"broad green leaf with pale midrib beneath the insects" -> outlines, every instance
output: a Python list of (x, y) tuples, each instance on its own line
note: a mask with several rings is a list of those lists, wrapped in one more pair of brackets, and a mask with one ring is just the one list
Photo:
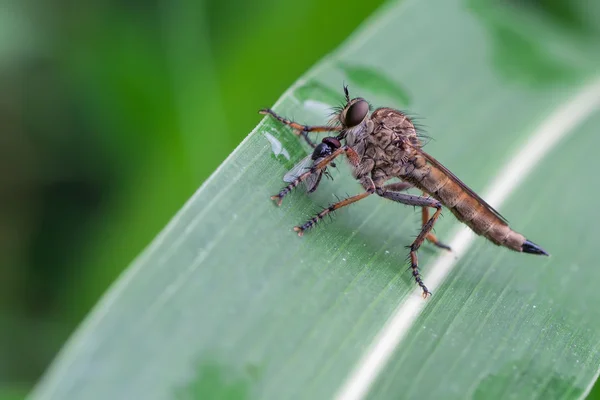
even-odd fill
[(322, 124), (346, 82), (408, 109), (434, 139), (428, 152), (551, 257), (472, 237), (446, 212), (436, 234), (455, 251), (420, 250), (434, 292), (422, 300), (404, 247), (418, 213), (371, 196), (298, 238), (294, 225), (360, 188), (339, 163), (333, 182), (277, 208), (269, 196), (308, 150), (264, 119), (32, 398), (585, 395), (600, 364), (600, 52), (597, 33), (569, 21), (483, 0), (390, 3), (274, 107)]

